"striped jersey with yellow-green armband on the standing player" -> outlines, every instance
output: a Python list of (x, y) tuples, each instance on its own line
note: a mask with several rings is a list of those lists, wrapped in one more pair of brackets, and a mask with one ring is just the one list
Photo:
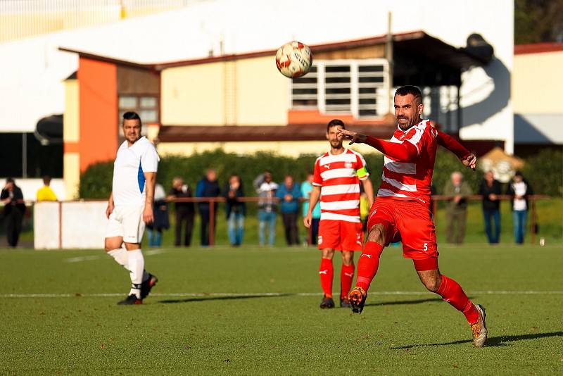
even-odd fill
[(350, 149), (317, 158), (313, 185), (321, 187), (321, 220), (360, 222), (360, 180), (369, 177), (364, 157)]

